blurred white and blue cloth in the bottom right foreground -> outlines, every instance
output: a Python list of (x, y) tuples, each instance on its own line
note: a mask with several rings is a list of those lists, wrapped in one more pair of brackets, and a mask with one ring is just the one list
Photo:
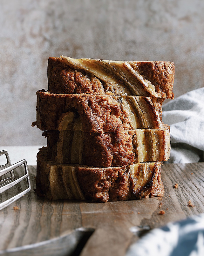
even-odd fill
[[(137, 233), (136, 233), (137, 234)], [(126, 256), (203, 256), (204, 214), (153, 229), (131, 245)]]

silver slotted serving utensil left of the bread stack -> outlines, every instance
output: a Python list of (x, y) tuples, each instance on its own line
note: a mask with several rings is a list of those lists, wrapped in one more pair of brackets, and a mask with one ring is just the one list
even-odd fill
[[(11, 164), (8, 151), (7, 150), (0, 151), (0, 156), (3, 154), (5, 154), (5, 156), (6, 156), (7, 163), (0, 166), (0, 195), (4, 191), (10, 189), (11, 187), (18, 184), (19, 182), (21, 182), (24, 179), (27, 179), (27, 187), (28, 188), (26, 188), (22, 192), (17, 193), (15, 196), (0, 203), (0, 210), (7, 207), (8, 205), (10, 205), (11, 203), (13, 203), (14, 201), (16, 201), (17, 199), (19, 199), (20, 197), (22, 197), (23, 195), (25, 195), (27, 192), (29, 192), (31, 190), (31, 182), (30, 182), (30, 178), (29, 178), (29, 174), (28, 174), (28, 165), (27, 165), (26, 160), (24, 159), (17, 163)], [(24, 164), (25, 174), (23, 176), (15, 179), (13, 170), (23, 164)], [(10, 175), (10, 177), (5, 177), (6, 174)]]

